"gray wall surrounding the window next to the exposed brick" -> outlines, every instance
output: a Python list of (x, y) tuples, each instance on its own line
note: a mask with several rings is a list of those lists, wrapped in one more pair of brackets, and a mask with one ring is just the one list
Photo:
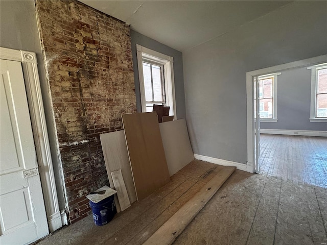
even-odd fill
[(141, 94), (139, 91), (139, 79), (138, 79), (138, 66), (136, 56), (136, 44), (150, 48), (161, 54), (174, 57), (174, 82), (175, 82), (175, 95), (176, 95), (176, 114), (177, 118), (185, 118), (185, 95), (184, 95), (184, 77), (183, 77), (183, 57), (182, 53), (174, 50), (173, 48), (166, 46), (160, 42), (157, 42), (147, 36), (144, 36), (138, 32), (131, 30), (132, 41), (132, 55), (133, 55), (133, 68), (135, 79), (135, 94), (136, 94), (136, 106), (137, 111), (141, 112)]

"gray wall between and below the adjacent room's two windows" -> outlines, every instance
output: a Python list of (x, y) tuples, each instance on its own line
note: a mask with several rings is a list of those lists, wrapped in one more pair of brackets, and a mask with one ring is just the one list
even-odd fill
[(310, 122), (311, 69), (282, 71), (277, 79), (277, 122), (264, 122), (262, 129), (327, 130), (326, 122)]

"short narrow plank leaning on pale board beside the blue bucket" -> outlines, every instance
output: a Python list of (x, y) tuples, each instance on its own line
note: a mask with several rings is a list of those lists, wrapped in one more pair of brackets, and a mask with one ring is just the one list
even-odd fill
[(131, 206), (131, 203), (129, 202), (128, 193), (122, 175), (122, 169), (112, 171), (111, 176), (114, 188), (117, 191), (117, 197), (121, 206), (121, 210), (124, 211)]

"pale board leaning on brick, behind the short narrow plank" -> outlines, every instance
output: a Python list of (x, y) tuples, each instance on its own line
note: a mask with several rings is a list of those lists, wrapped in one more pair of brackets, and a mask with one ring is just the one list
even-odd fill
[[(124, 131), (100, 134), (100, 140), (110, 186), (114, 186), (111, 171), (122, 169), (129, 201), (130, 203), (137, 201)], [(120, 212), (121, 209), (116, 195), (115, 204), (117, 212)]]

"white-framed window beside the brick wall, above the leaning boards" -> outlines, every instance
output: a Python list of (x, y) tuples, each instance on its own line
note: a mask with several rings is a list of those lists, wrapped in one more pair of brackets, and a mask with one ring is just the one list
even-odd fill
[(152, 111), (153, 104), (169, 106), (176, 119), (173, 57), (136, 44), (142, 112)]

